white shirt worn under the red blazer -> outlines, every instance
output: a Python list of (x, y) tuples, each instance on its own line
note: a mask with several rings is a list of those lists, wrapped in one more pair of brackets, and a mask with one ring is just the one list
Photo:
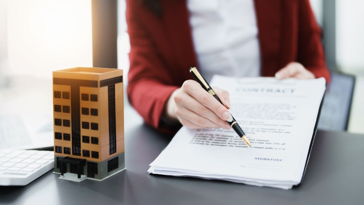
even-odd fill
[(258, 27), (253, 0), (187, 0), (198, 69), (214, 74), (260, 76)]

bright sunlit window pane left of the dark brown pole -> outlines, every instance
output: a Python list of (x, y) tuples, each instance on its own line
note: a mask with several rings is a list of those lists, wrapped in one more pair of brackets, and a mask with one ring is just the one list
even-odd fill
[(9, 75), (52, 77), (53, 70), (92, 67), (91, 0), (8, 0)]

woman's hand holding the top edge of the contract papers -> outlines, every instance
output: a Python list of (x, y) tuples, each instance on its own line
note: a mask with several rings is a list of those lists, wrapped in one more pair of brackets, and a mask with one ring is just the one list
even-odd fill
[(314, 74), (298, 62), (290, 62), (276, 73), (276, 78), (314, 79)]

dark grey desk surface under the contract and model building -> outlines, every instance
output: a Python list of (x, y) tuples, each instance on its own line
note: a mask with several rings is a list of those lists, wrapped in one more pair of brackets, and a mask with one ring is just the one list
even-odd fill
[[(129, 112), (126, 115), (131, 116)], [(52, 171), (23, 187), (0, 187), (0, 204), (362, 204), (364, 136), (318, 131), (302, 185), (292, 190), (147, 174), (171, 137), (126, 123), (126, 171), (102, 182), (58, 179)], [(131, 125), (132, 124), (132, 125)], [(345, 143), (344, 140), (346, 140)]]

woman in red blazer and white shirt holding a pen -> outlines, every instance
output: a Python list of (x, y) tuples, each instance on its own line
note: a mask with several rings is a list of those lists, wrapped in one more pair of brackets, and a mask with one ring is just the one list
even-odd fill
[(219, 104), (192, 79), (213, 74), (330, 80), (309, 0), (127, 0), (128, 97), (147, 124), (225, 127), (230, 101)]

